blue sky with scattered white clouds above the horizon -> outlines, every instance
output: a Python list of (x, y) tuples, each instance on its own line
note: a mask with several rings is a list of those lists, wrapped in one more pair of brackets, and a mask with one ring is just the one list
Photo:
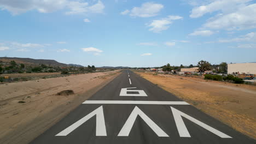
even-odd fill
[(0, 57), (155, 67), (256, 62), (256, 1), (0, 0)]

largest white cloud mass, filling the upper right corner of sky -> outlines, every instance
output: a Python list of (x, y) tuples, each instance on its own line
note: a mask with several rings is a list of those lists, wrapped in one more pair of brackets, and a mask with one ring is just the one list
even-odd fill
[(256, 28), (256, 4), (252, 0), (215, 0), (193, 8), (190, 17), (218, 12), (203, 24), (204, 29), (243, 30)]

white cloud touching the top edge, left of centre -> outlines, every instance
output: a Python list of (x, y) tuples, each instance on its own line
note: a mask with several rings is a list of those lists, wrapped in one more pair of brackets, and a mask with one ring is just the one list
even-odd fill
[(87, 13), (103, 13), (105, 8), (104, 4), (101, 1), (98, 1), (94, 5), (90, 5), (87, 2), (72, 1), (69, 2), (67, 7), (70, 11), (67, 11), (67, 15), (71, 14), (87, 14)]

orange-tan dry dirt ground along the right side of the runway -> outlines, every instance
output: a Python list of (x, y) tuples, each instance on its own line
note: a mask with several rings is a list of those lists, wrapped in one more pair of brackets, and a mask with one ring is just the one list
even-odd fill
[(197, 109), (256, 139), (256, 86), (136, 72)]

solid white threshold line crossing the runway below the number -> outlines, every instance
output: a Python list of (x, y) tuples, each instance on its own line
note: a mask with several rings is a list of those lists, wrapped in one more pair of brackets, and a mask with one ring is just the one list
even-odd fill
[(185, 101), (86, 100), (83, 104), (189, 105)]

